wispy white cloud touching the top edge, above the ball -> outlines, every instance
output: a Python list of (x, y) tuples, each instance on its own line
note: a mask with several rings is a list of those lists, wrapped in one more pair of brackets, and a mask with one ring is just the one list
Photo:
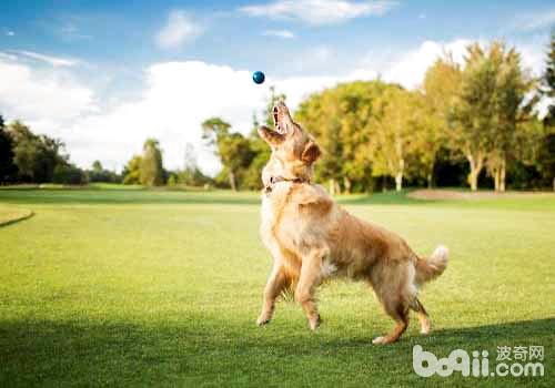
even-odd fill
[(264, 4), (242, 7), (240, 11), (251, 17), (299, 20), (319, 25), (336, 24), (371, 14), (382, 16), (395, 4), (394, 1), (276, 0)]

